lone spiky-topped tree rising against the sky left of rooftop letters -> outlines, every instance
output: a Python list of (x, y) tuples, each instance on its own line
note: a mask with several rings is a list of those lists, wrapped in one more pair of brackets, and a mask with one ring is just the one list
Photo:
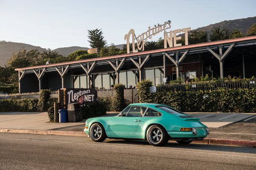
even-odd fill
[(88, 30), (88, 42), (90, 42), (91, 48), (98, 48), (99, 50), (106, 46), (107, 41), (104, 40), (101, 29)]

